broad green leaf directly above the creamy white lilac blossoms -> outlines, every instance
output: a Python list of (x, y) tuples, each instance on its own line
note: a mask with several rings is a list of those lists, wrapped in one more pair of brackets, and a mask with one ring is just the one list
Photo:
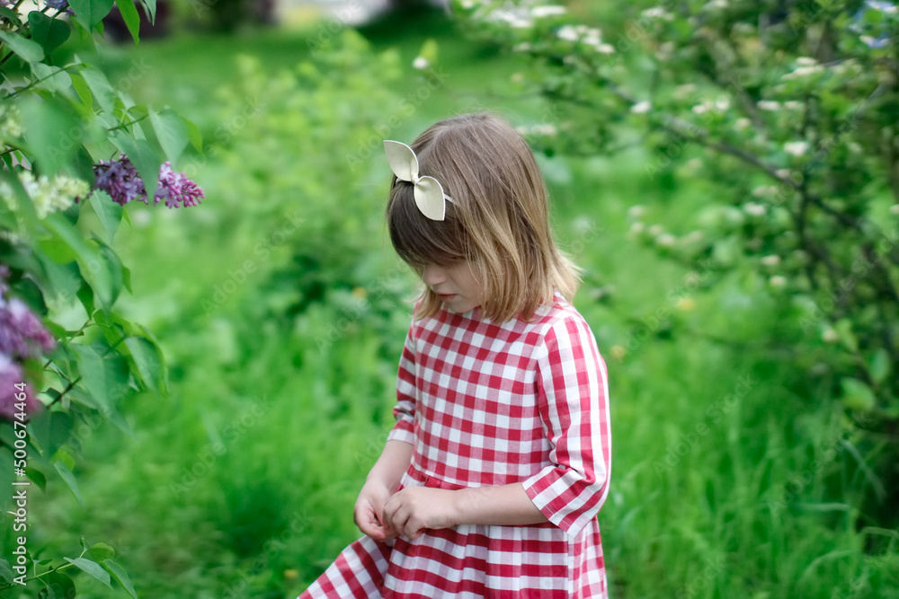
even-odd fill
[(80, 146), (82, 122), (71, 108), (57, 98), (42, 100), (36, 96), (19, 102), (25, 123), (28, 152), (40, 174), (55, 175), (67, 166)]

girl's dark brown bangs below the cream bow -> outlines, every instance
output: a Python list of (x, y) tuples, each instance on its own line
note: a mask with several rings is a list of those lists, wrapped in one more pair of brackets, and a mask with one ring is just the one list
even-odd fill
[(411, 266), (448, 266), (467, 258), (465, 234), (447, 202), (442, 221), (424, 216), (415, 204), (414, 187), (396, 181), (387, 204), (387, 226), (396, 253)]

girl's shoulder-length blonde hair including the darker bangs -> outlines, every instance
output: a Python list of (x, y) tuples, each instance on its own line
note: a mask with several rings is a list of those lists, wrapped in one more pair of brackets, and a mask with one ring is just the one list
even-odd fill
[[(393, 179), (387, 203), (390, 241), (416, 270), (467, 260), (484, 290), (485, 317), (528, 320), (555, 289), (569, 300), (579, 269), (556, 247), (549, 230), (546, 183), (530, 146), (503, 119), (465, 114), (441, 120), (411, 144), (419, 174), (441, 182), (452, 202), (442, 221), (415, 205), (413, 185)], [(441, 301), (425, 286), (417, 318), (433, 316)]]

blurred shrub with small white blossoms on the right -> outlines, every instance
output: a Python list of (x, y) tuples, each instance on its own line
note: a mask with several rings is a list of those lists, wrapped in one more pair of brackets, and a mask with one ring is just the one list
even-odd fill
[(690, 265), (696, 289), (727, 280), (779, 304), (771, 345), (797, 388), (859, 424), (846, 443), (871, 481), (862, 512), (895, 525), (899, 485), (878, 477), (895, 481), (899, 458), (899, 7), (655, 4), (601, 31), (561, 6), (454, 3), (470, 31), (533, 59), (518, 81), (560, 110), (535, 145), (601, 154), (639, 137), (648, 180), (703, 181), (708, 207), (683, 231), (636, 207), (632, 234)]

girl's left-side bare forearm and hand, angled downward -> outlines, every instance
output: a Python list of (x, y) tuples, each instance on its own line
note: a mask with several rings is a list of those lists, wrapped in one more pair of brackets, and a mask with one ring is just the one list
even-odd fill
[(362, 533), (376, 541), (396, 536), (382, 520), (382, 512), (411, 461), (412, 445), (405, 441), (389, 440), (362, 485), (352, 510), (352, 519)]

